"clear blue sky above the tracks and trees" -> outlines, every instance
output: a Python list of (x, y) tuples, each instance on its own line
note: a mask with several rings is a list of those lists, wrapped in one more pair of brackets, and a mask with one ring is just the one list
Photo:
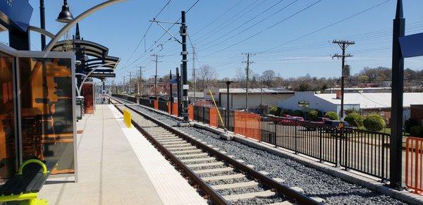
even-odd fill
[[(103, 1), (68, 1), (74, 16)], [(281, 77), (307, 73), (317, 77), (339, 77), (341, 61), (331, 56), (341, 49), (334, 39), (354, 41), (346, 63), (351, 73), (365, 66), (391, 67), (392, 23), (395, 0), (128, 0), (104, 8), (80, 22), (81, 36), (109, 47), (109, 55), (121, 58), (116, 82), (123, 76), (154, 75), (152, 54), (158, 54), (158, 75), (174, 72), (180, 66), (181, 45), (165, 34), (157, 23), (150, 23), (161, 8), (157, 20), (176, 22), (180, 11), (188, 11), (188, 69), (192, 72), (192, 46), (195, 67), (209, 65), (218, 77), (235, 77), (245, 68), (246, 56), (253, 54), (250, 69), (261, 74), (274, 70)], [(168, 4), (167, 4), (168, 3)], [(39, 1), (31, 25), (39, 26)], [(165, 6), (167, 4), (167, 6)], [(405, 0), (406, 35), (423, 32), (422, 0)], [(62, 1), (46, 0), (46, 28), (58, 32), (63, 25), (55, 21)], [(151, 26), (150, 26), (151, 25)], [(171, 23), (163, 23), (171, 27)], [(148, 29), (149, 28), (149, 29)], [(169, 30), (180, 39), (179, 25)], [(70, 35), (75, 33), (74, 30)], [(146, 34), (146, 35), (145, 35)], [(143, 36), (145, 35), (145, 38)], [(170, 40), (169, 40), (170, 39)], [(8, 42), (5, 33), (1, 42)], [(48, 42), (48, 40), (47, 40)], [(32, 50), (39, 50), (37, 33), (31, 34)], [(405, 59), (405, 68), (423, 69), (423, 57)], [(110, 81), (109, 81), (110, 82)]]

